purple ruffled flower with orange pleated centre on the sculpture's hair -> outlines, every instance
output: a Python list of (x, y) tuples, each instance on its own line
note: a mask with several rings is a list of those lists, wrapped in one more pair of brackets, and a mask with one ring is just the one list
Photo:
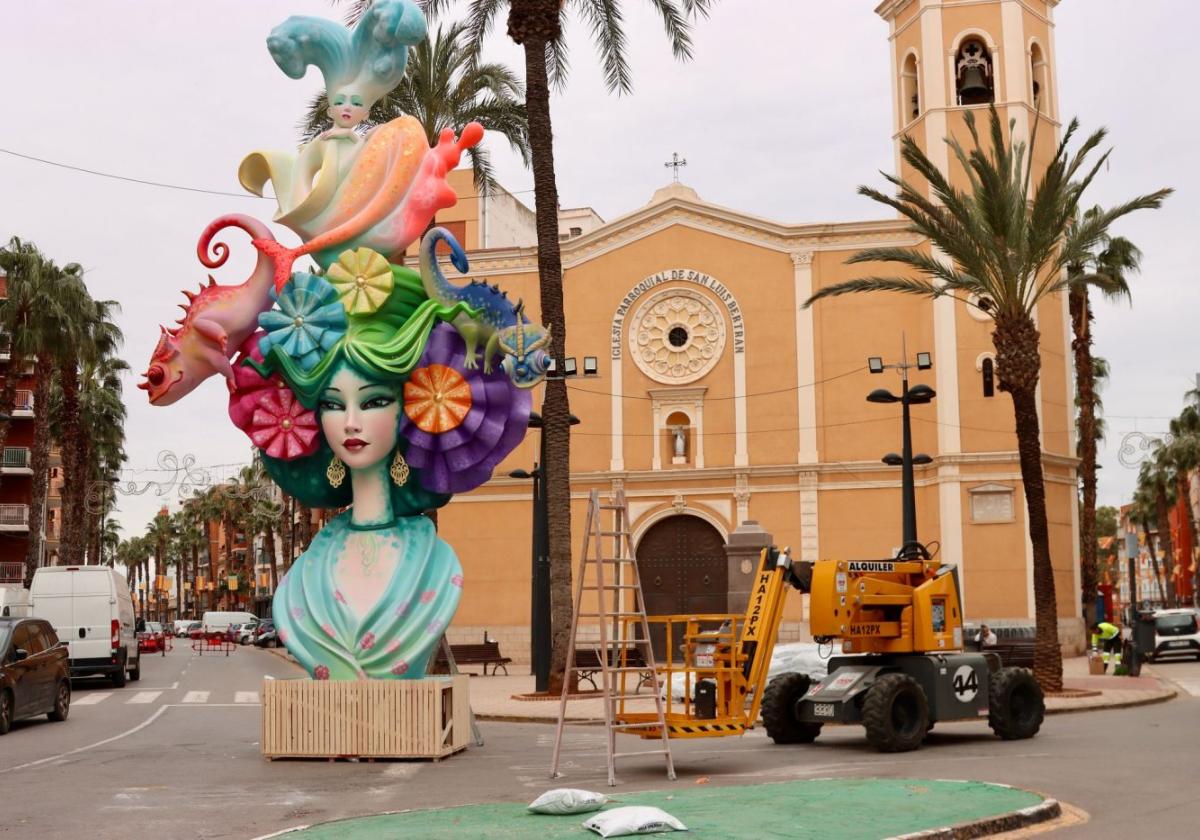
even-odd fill
[(458, 331), (439, 324), (404, 384), (404, 457), (434, 493), (462, 493), (487, 481), (529, 424), (530, 392), (500, 370), (468, 368), (466, 355)]

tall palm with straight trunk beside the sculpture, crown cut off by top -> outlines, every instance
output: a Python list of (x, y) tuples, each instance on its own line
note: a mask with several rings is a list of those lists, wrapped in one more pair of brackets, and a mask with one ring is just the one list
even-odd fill
[[(368, 0), (355, 0), (350, 19), (356, 20)], [(691, 26), (707, 16), (713, 0), (649, 0), (662, 18), (671, 52), (678, 60), (691, 58)], [(420, 0), (431, 17), (449, 11), (450, 0)], [(576, 12), (592, 34), (611, 92), (628, 94), (632, 73), (625, 58), (625, 32), (620, 0), (473, 0), (467, 17), (467, 41), (473, 49), (484, 42), (497, 17), (508, 13), (508, 35), (524, 50), (526, 115), (529, 125), (529, 157), (536, 194), (538, 278), (541, 320), (550, 328), (554, 358), (566, 355), (566, 318), (563, 312), (563, 263), (558, 247), (558, 184), (554, 175), (554, 136), (550, 114), (550, 89), (563, 86), (568, 76), (566, 38), (563, 25)], [(566, 383), (546, 383), (541, 407), (546, 445), (546, 506), (550, 530), (551, 665), (550, 691), (562, 689), (571, 626), (571, 484), (570, 407)]]

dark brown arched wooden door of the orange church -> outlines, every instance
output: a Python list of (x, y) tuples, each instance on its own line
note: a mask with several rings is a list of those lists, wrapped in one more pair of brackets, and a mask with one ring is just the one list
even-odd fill
[[(680, 514), (650, 526), (637, 544), (646, 612), (650, 616), (722, 613), (730, 588), (725, 540), (713, 526)], [(654, 656), (665, 660), (665, 634), (650, 625)], [(679, 659), (680, 640), (672, 640)]]

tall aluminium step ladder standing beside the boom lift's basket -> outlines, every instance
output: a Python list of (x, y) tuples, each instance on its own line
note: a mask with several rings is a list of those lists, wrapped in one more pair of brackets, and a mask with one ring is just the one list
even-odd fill
[[(605, 529), (605, 514), (611, 514), (612, 527)], [(610, 553), (605, 553), (605, 547)], [(666, 719), (661, 686), (654, 662), (654, 650), (650, 647), (650, 628), (646, 620), (646, 600), (642, 596), (642, 582), (637, 575), (637, 562), (634, 559), (632, 540), (629, 532), (629, 508), (625, 504), (625, 492), (618, 490), (611, 502), (601, 503), (600, 491), (593, 490), (588, 498), (587, 527), (583, 532), (583, 551), (580, 554), (578, 570), (575, 577), (575, 610), (571, 613), (571, 635), (566, 648), (566, 671), (563, 674), (563, 696), (558, 707), (558, 727), (554, 732), (554, 754), (551, 760), (550, 776), (559, 776), (558, 762), (563, 748), (563, 731), (568, 724), (566, 703), (571, 697), (572, 685), (577, 685), (581, 668), (575, 666), (575, 650), (580, 641), (580, 619), (596, 619), (599, 629), (600, 662), (600, 700), (604, 706), (604, 718), (594, 720), (572, 720), (574, 724), (600, 724), (605, 726), (605, 755), (608, 763), (608, 784), (617, 784), (617, 760), (643, 755), (661, 755), (666, 758), (667, 779), (676, 778), (674, 761), (671, 757), (671, 742), (667, 737)], [(634, 626), (632, 636), (628, 628)], [(636, 667), (626, 667), (628, 653), (640, 652), (642, 662)], [(655, 719), (641, 724), (620, 724), (618, 721), (618, 703), (624, 708), (626, 700), (646, 700), (636, 690), (642, 682), (642, 674), (649, 672), (656, 709)], [(635, 694), (629, 694), (629, 677), (632, 676)], [(643, 749), (632, 752), (617, 751), (618, 732), (658, 727), (661, 745), (655, 749)], [(634, 732), (636, 734), (636, 732)]]

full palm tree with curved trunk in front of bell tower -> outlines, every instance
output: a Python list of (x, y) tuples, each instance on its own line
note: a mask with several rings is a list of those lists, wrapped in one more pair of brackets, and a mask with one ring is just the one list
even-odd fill
[[(1080, 215), (1085, 190), (1108, 160), (1105, 152), (1085, 168), (1088, 154), (1103, 142), (1105, 131), (1094, 132), (1078, 151), (1069, 154), (1068, 146), (1079, 127), (1073, 120), (1031, 196), (1032, 155), (1026, 154), (1024, 142), (1009, 143), (995, 107), (989, 110), (990, 148), (980, 143), (974, 114), (970, 110), (965, 122), (973, 149), (966, 150), (956, 139), (947, 138), (970, 181), (968, 191), (952, 186), (947, 173), (941, 172), (911, 137), (901, 140), (901, 155), (929, 184), (932, 200), (922, 185), (908, 184), (898, 175), (884, 175), (896, 194), (859, 187), (859, 193), (906, 217), (913, 233), (926, 238), (949, 259), (942, 262), (937, 254), (920, 247), (859, 251), (847, 262), (899, 264), (918, 276), (870, 276), (834, 283), (817, 290), (805, 306), (823, 298), (860, 292), (899, 292), (930, 299), (950, 295), (968, 302), (973, 295), (980, 301), (979, 307), (991, 316), (1000, 388), (1013, 398), (1033, 546), (1038, 628), (1033, 671), (1045, 690), (1057, 691), (1062, 689), (1062, 650), (1042, 470), (1037, 410), (1042, 354), (1034, 313), (1040, 301), (1072, 286), (1091, 284), (1105, 292), (1114, 290), (1109, 277), (1093, 272), (1068, 277), (1066, 269), (1080, 263), (1082, 254), (1093, 252), (1114, 221), (1134, 210), (1159, 206), (1170, 191), (1141, 196), (1072, 224)], [(1009, 136), (1013, 130), (1010, 125)]]

